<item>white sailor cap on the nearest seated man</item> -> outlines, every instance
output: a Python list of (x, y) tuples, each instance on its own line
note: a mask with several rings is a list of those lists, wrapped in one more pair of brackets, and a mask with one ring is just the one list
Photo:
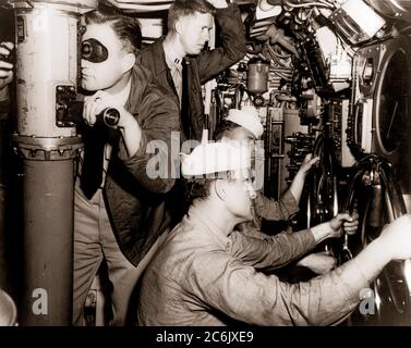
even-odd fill
[(232, 142), (201, 144), (190, 154), (181, 153), (181, 172), (184, 176), (249, 167), (250, 149)]

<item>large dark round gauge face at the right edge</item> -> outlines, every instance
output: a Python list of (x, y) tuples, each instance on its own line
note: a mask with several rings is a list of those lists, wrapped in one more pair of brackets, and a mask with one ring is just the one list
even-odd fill
[(387, 153), (398, 149), (411, 130), (409, 115), (410, 74), (406, 53), (397, 51), (383, 72), (377, 110), (377, 130)]

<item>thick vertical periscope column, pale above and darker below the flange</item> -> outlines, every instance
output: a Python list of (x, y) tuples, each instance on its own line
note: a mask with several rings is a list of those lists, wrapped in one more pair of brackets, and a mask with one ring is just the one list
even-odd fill
[(58, 105), (76, 95), (77, 33), (96, 0), (12, 1), (16, 20), (15, 150), (23, 160), (21, 325), (70, 325), (74, 159), (82, 148)]

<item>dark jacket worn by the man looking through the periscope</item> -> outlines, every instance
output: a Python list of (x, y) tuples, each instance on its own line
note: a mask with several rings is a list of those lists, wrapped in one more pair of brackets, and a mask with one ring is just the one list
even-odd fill
[[(153, 75), (147, 70), (134, 66), (125, 109), (143, 129), (142, 140), (132, 158), (128, 158), (121, 138), (113, 141), (104, 189), (107, 212), (120, 249), (134, 265), (168, 227), (170, 217), (166, 213), (166, 201), (174, 185), (170, 175), (170, 139), (171, 132), (179, 130), (179, 109), (166, 91), (152, 82)], [(152, 140), (167, 145), (164, 161), (168, 159), (168, 178), (147, 175), (147, 162), (156, 156), (146, 152)]]

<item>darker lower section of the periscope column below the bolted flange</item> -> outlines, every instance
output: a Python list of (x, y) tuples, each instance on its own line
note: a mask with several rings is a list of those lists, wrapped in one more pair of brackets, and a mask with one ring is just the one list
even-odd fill
[(71, 323), (73, 160), (24, 160), (22, 325)]

